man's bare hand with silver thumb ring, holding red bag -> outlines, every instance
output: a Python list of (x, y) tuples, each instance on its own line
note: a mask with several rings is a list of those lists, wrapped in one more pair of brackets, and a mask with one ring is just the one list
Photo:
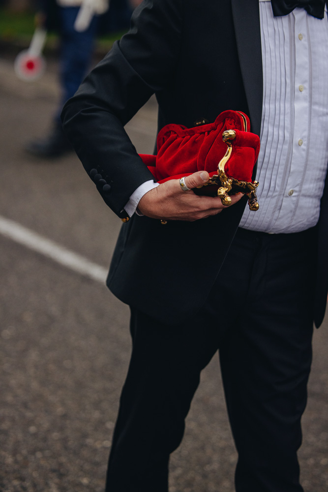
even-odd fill
[[(179, 180), (170, 180), (148, 191), (140, 200), (138, 210), (148, 217), (165, 220), (198, 220), (216, 215), (227, 207), (219, 197), (196, 195), (192, 188), (209, 181), (207, 171), (187, 176), (185, 184), (190, 191), (183, 191)], [(238, 202), (242, 193), (231, 196), (230, 207)]]

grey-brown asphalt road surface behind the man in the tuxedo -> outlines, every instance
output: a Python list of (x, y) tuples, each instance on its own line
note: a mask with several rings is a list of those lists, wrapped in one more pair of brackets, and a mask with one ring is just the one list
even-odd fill
[[(47, 161), (24, 151), (47, 132), (57, 97), (56, 64), (29, 85), (15, 78), (10, 60), (0, 60), (0, 218), (13, 221), (11, 231), (21, 225), (23, 235), (37, 234), (27, 246), (0, 233), (2, 492), (103, 491), (130, 353), (128, 308), (103, 281), (56, 260), (64, 246), (105, 271), (120, 220), (75, 155)], [(150, 100), (127, 125), (139, 152), (152, 151), (155, 127)], [(52, 258), (33, 248), (42, 238), (52, 242)], [(303, 418), (306, 492), (328, 490), (327, 353), (328, 317), (315, 331)], [(171, 460), (170, 492), (233, 492), (236, 459), (214, 357)]]

